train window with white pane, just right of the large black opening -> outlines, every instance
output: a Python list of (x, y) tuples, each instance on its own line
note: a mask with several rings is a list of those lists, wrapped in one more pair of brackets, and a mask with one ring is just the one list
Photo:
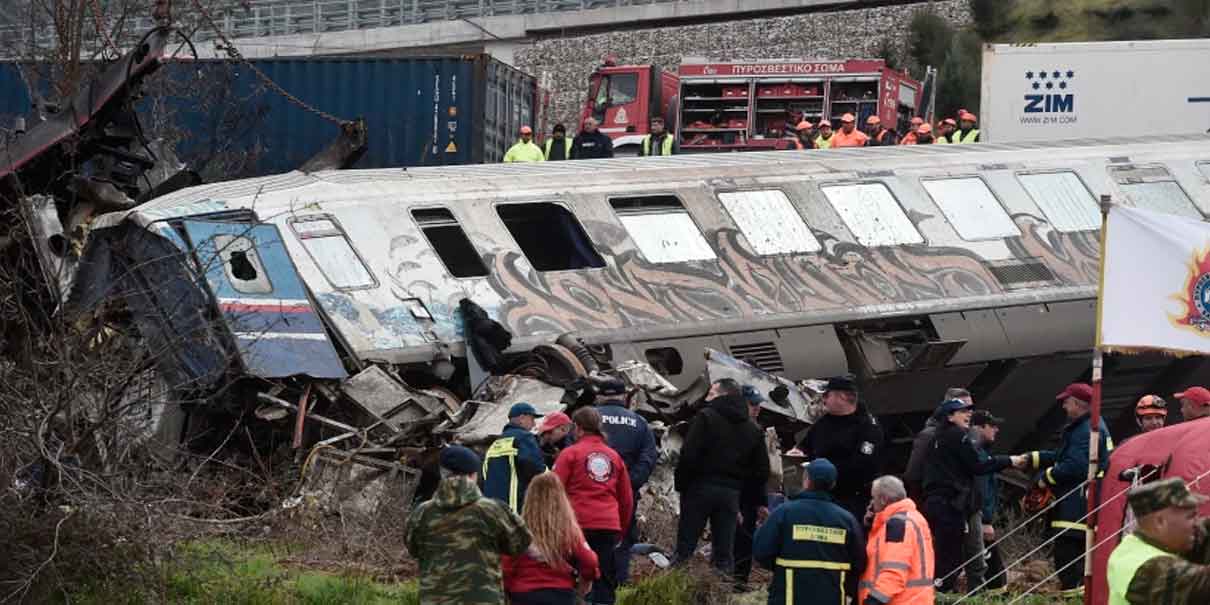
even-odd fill
[(714, 260), (714, 250), (676, 196), (613, 197), (609, 203), (649, 261)]

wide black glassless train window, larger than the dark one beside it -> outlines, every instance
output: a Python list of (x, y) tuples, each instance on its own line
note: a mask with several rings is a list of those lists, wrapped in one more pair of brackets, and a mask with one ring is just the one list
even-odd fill
[(605, 266), (584, 227), (563, 206), (551, 202), (505, 203), (496, 207), (496, 214), (530, 265), (538, 271)]

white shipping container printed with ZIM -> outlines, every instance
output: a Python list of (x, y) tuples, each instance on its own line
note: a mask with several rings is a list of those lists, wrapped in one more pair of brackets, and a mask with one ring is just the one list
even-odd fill
[(1210, 131), (1210, 40), (986, 45), (980, 139)]

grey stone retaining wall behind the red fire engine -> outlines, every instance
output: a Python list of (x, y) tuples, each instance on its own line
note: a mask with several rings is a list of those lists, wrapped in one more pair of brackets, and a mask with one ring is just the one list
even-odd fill
[[(513, 48), (519, 69), (546, 82), (551, 105), (546, 127), (555, 122), (578, 125), (578, 113), (588, 94), (588, 76), (601, 57), (615, 54), (621, 64), (656, 63), (675, 69), (685, 57), (713, 60), (777, 58), (872, 58), (883, 39), (903, 64), (908, 23), (921, 7), (932, 6), (957, 27), (972, 22), (968, 0), (938, 0), (877, 8), (808, 12), (770, 17), (630, 29), (604, 34), (547, 38)], [(920, 74), (914, 74), (917, 77)]]

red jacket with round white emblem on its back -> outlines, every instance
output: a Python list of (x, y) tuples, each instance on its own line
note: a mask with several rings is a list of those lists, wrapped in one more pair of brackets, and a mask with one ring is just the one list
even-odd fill
[(605, 439), (586, 434), (554, 459), (554, 474), (563, 479), (580, 526), (622, 531), (634, 514), (634, 494), (626, 463)]

